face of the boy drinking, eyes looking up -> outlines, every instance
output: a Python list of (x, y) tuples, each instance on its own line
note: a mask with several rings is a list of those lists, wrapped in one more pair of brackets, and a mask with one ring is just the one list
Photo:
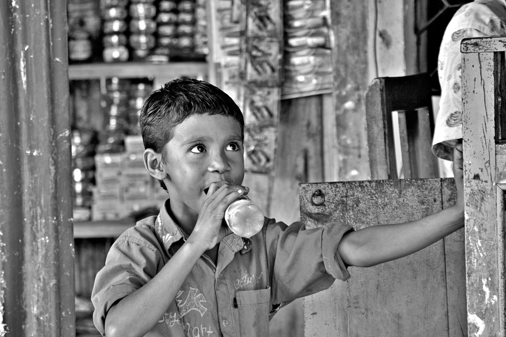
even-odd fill
[(188, 117), (173, 131), (163, 150), (171, 208), (189, 208), (198, 214), (212, 182), (242, 183), (241, 126), (233, 117), (203, 114)]

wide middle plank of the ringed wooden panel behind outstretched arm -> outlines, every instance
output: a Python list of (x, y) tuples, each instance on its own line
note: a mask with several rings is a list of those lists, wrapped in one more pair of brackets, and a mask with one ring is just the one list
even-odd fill
[[(441, 210), (440, 179), (346, 183), (355, 229), (419, 219)], [(416, 206), (415, 206), (416, 205)], [(370, 268), (350, 267), (350, 336), (447, 336), (443, 241)]]

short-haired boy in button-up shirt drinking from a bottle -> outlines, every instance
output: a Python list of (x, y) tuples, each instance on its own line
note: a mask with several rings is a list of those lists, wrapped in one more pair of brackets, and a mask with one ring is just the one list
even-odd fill
[(170, 199), (116, 240), (97, 274), (94, 321), (108, 337), (268, 336), (270, 313), (348, 279), (347, 266), (406, 256), (463, 225), (455, 150), (457, 203), (436, 214), (357, 231), (266, 218), (242, 239), (223, 225), (226, 208), (248, 191), (244, 121), (228, 95), (202, 81), (168, 82), (146, 101), (140, 125), (146, 169)]

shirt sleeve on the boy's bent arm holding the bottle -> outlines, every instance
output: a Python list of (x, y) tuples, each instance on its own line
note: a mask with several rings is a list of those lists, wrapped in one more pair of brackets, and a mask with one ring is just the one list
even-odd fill
[(136, 226), (123, 233), (111, 246), (104, 268), (97, 273), (92, 293), (93, 321), (103, 336), (109, 309), (146, 284), (163, 267), (156, 246), (144, 238), (149, 237), (148, 231)]

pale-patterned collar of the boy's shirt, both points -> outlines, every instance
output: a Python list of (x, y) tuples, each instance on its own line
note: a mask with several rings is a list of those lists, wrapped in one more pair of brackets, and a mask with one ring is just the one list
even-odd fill
[[(165, 200), (163, 203), (160, 208), (160, 213), (156, 217), (155, 224), (156, 235), (167, 252), (173, 243), (181, 239), (186, 241), (188, 238), (188, 234), (181, 229), (168, 214), (168, 205), (170, 205), (170, 199)], [(240, 252), (241, 254), (249, 252), (253, 245), (251, 239), (241, 237), (234, 233), (226, 236), (222, 242), (229, 246), (235, 253)]]

